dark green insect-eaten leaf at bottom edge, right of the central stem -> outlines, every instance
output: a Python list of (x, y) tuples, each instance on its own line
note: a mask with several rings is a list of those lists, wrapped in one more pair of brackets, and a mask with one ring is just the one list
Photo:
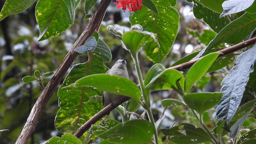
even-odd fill
[(162, 129), (160, 132), (168, 136), (167, 140), (175, 144), (200, 144), (212, 140), (202, 128), (196, 128), (194, 125), (187, 123)]

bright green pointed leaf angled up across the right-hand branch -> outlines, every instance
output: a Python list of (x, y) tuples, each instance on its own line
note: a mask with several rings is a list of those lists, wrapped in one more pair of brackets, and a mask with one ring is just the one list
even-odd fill
[(210, 68), (214, 60), (220, 53), (211, 53), (198, 60), (189, 70), (185, 78), (185, 92), (189, 93), (190, 88), (204, 75)]

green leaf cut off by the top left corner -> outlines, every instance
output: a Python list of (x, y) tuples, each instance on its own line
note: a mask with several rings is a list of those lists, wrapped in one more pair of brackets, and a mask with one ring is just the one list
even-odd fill
[(0, 13), (0, 21), (10, 16), (18, 14), (29, 8), (36, 0), (6, 0)]

